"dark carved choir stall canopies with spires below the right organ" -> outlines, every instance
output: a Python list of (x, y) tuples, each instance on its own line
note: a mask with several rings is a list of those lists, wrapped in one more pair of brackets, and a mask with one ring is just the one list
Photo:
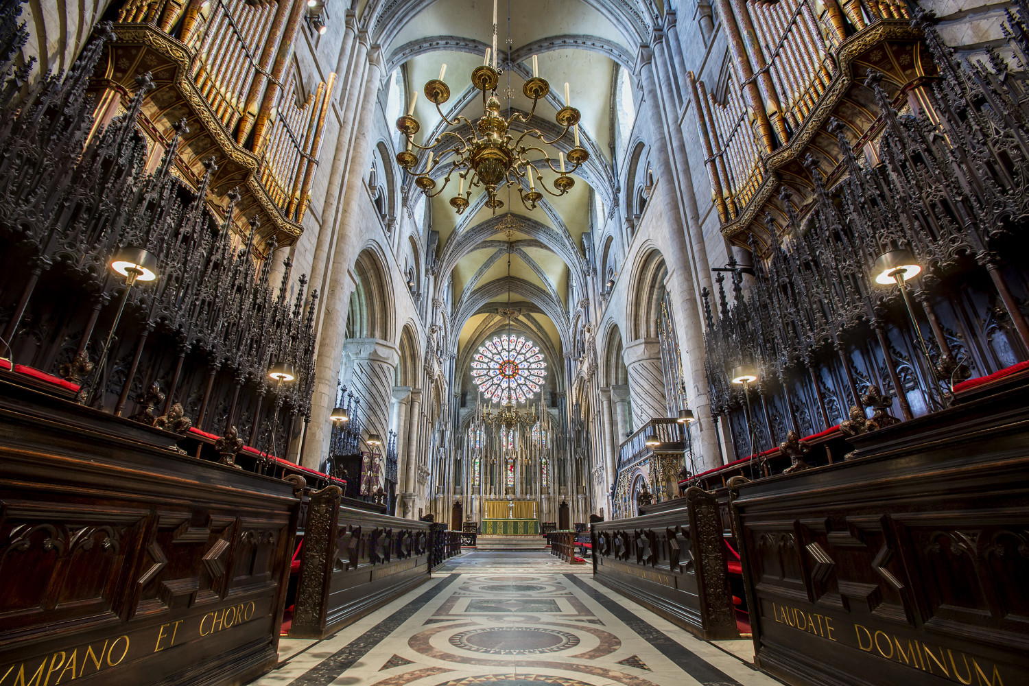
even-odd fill
[[(1026, 12), (1010, 15), (1016, 36), (1025, 35)], [(704, 293), (710, 398), (737, 458), (751, 442), (761, 452), (788, 431), (816, 434), (854, 419), (849, 407), (858, 420), (867, 407), (904, 420), (942, 409), (953, 383), (1029, 357), (1029, 272), (1009, 259), (1024, 254), (1029, 222), (1025, 81), (996, 56), (989, 70), (960, 68), (928, 17), (916, 23), (939, 73), (923, 107), (900, 114), (885, 80), (870, 76), (862, 87), (884, 129), (865, 148), (876, 165), (861, 164), (846, 125), (831, 125), (846, 176), (832, 187), (806, 158), (810, 212), (802, 216), (786, 189), (787, 239), (770, 247), (750, 233), (752, 281), (737, 268), (731, 296), (720, 274), (718, 293)], [(769, 234), (780, 230), (771, 213), (766, 221)], [(928, 360), (897, 287), (870, 275), (894, 247), (923, 267), (909, 289)], [(743, 388), (728, 376), (741, 363), (759, 371), (749, 421)], [(865, 398), (873, 388), (885, 402)]]

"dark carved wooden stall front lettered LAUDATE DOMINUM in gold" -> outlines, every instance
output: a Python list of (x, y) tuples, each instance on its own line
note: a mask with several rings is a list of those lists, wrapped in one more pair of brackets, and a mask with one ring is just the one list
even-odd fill
[(790, 684), (1026, 683), (1029, 392), (733, 482), (756, 660)]

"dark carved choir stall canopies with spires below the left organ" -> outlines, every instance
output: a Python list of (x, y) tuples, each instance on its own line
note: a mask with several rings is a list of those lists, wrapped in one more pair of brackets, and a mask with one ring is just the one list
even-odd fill
[[(0, 45), (0, 58), (12, 45)], [(288, 260), (272, 283), (255, 216), (238, 244), (229, 230), (238, 193), (228, 193), (223, 221), (211, 216), (216, 165), (205, 164), (196, 193), (183, 185), (173, 169), (184, 145), (178, 132), (145, 171), (153, 155), (139, 135), (147, 78), (121, 117), (99, 125), (86, 87), (103, 51), (103, 38), (94, 40), (66, 75), (45, 76), (12, 101), (28, 70), (16, 73), (0, 99), (3, 353), (49, 378), (55, 393), (79, 391), (96, 407), (182, 432), (190, 421), (215, 437), (235, 426), (243, 443), (285, 455), (310, 412), (317, 293), (305, 292), (303, 276), (290, 292)], [(115, 329), (126, 286), (109, 263), (126, 246), (155, 255), (158, 278), (129, 289)], [(291, 363), (295, 381), (273, 385), (274, 362)]]

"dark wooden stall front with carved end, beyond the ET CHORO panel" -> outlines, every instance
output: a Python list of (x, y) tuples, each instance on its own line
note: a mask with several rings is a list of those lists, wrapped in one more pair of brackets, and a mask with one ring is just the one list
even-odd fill
[(334, 485), (311, 494), (290, 637), (330, 636), (429, 580), (430, 525), (342, 506), (342, 496)]

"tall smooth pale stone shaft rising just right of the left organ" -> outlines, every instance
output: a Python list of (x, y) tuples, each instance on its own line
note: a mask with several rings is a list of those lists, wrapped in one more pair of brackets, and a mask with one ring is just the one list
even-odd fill
[[(371, 116), (376, 94), (379, 92), (379, 74), (378, 60), (369, 61), (361, 103), (361, 121), (367, 121)], [(369, 127), (357, 128), (350, 169), (364, 168), (368, 156), (369, 131)], [(344, 208), (357, 207), (362, 189), (361, 175), (350, 174)], [(354, 281), (348, 278), (348, 272), (357, 257), (357, 248), (361, 240), (359, 215), (359, 212), (349, 211), (341, 218), (341, 226), (334, 238), (331, 279), (326, 277), (325, 291), (322, 293), (322, 324), (318, 334), (318, 353), (315, 360), (315, 390), (311, 399), (311, 426), (314, 429), (313, 435), (305, 443), (303, 456), (304, 466), (315, 469), (321, 456), (328, 450), (330, 434), (327, 431), (328, 413), (335, 402), (335, 384), (346, 339), (347, 312), (350, 294), (354, 289)], [(392, 377), (390, 385), (392, 386)]]

